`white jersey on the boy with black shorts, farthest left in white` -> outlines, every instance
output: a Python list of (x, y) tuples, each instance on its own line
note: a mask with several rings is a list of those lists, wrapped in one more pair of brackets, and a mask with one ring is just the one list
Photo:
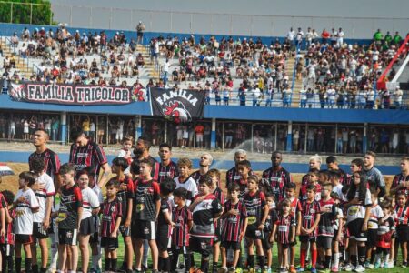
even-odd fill
[(15, 201), (20, 197), (25, 198), (24, 203), (18, 203), (15, 207), (15, 234), (33, 234), (33, 209), (38, 208), (37, 198), (34, 191), (29, 188), (25, 191), (19, 189), (15, 195)]

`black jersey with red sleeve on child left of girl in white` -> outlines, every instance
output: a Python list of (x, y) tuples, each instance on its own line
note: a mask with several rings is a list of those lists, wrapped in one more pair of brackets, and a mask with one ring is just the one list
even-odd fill
[(78, 224), (78, 208), (83, 207), (83, 195), (77, 184), (61, 187), (58, 228), (75, 229)]

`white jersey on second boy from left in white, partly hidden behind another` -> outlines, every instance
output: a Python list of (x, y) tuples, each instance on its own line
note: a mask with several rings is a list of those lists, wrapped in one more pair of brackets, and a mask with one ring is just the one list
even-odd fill
[[(55, 187), (53, 178), (48, 176), (46, 173), (43, 173), (40, 177), (38, 177), (37, 182), (40, 185), (44, 184), (45, 189), (35, 191), (35, 197), (37, 197), (40, 209), (33, 215), (33, 221), (35, 223), (42, 223), (45, 218), (47, 197), (55, 196)], [(53, 201), (51, 201), (51, 204), (53, 204)]]

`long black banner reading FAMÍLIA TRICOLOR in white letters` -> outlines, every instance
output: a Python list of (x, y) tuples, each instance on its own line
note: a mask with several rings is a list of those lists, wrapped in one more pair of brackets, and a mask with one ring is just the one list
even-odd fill
[(11, 82), (8, 94), (17, 101), (65, 105), (124, 105), (133, 101), (132, 89), (121, 86)]

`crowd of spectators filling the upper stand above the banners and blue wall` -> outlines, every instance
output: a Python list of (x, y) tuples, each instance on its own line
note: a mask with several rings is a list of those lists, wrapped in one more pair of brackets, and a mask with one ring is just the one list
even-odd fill
[[(140, 22), (136, 29), (136, 37), (124, 32), (108, 37), (105, 31), (70, 33), (65, 25), (48, 31), (25, 28), (10, 42), (15, 54), (42, 60), (29, 80), (133, 86), (135, 100), (146, 100), (145, 90), (158, 86), (200, 90), (206, 94), (206, 103), (212, 97), (216, 105), (236, 100), (241, 106), (276, 106), (272, 102), (278, 99), (279, 106), (290, 106), (298, 92), (301, 107), (402, 106), (402, 90), (376, 91), (374, 87), (403, 41), (397, 32), (392, 36), (378, 30), (369, 45), (346, 44), (342, 28), (324, 29), (321, 34), (311, 27), (305, 33), (301, 27), (297, 31), (290, 28), (284, 40), (275, 39), (269, 45), (260, 38), (159, 35), (149, 41), (151, 60), (146, 60), (137, 50), (145, 25)], [(300, 90), (293, 90), (287, 75), (291, 56), (297, 59), (295, 79), (302, 80)], [(162, 75), (145, 85), (139, 76), (151, 62)], [(21, 79), (16, 70), (10, 74), (14, 67), (15, 56), (5, 56), (5, 79)]]

